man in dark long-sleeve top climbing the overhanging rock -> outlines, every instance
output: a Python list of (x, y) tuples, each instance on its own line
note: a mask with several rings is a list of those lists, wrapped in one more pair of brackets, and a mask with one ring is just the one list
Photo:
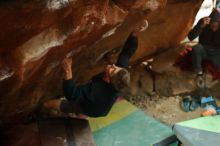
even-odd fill
[(104, 72), (95, 75), (90, 82), (77, 86), (72, 80), (72, 59), (62, 61), (65, 77), (63, 91), (66, 99), (52, 99), (44, 102), (44, 107), (63, 113), (83, 114), (89, 117), (106, 116), (130, 82), (127, 70), (129, 59), (137, 49), (137, 33), (143, 31), (147, 21), (139, 23), (128, 37), (117, 63), (107, 65)]

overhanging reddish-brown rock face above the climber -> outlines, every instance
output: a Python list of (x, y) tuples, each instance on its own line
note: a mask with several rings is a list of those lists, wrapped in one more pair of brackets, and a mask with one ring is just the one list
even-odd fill
[[(78, 83), (103, 71), (107, 64), (105, 54), (114, 48), (120, 50), (135, 23), (142, 19), (147, 19), (150, 26), (138, 36), (134, 65), (174, 48), (191, 28), (201, 3), (202, 0), (0, 2), (1, 123), (15, 122), (33, 110), (41, 98), (62, 95), (60, 61), (64, 57), (73, 58)], [(155, 63), (166, 66), (160, 59)], [(140, 79), (138, 75), (136, 78)]]

